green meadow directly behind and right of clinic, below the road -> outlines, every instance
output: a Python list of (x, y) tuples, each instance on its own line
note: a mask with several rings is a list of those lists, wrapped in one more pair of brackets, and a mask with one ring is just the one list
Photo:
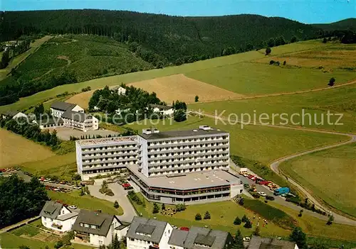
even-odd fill
[(344, 135), (295, 131), (267, 126), (245, 126), (241, 129), (239, 124), (224, 125), (218, 122), (216, 125), (213, 118), (198, 118), (195, 116), (189, 116), (187, 121), (181, 123), (172, 122), (172, 125), (169, 120), (164, 120), (159, 121), (157, 125), (152, 125), (148, 121), (145, 124), (145, 121), (142, 121), (140, 124), (131, 123), (127, 127), (141, 132), (142, 128), (150, 128), (151, 126), (157, 127), (161, 131), (167, 131), (177, 128), (198, 128), (201, 125), (209, 125), (223, 131), (229, 131), (231, 155), (241, 155), (263, 163), (271, 162), (285, 155), (348, 139)]

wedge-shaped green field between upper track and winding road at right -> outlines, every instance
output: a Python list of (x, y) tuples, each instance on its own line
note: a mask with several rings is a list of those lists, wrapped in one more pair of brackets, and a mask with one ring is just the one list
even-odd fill
[[(256, 111), (256, 121), (258, 122), (258, 116), (261, 114), (268, 114), (267, 119), (263, 119), (263, 122), (272, 123), (272, 114), (288, 114), (288, 126), (302, 126), (304, 109), (304, 127), (320, 128), (330, 131), (341, 131), (346, 133), (356, 132), (356, 84), (352, 84), (345, 87), (320, 91), (320, 92), (308, 92), (304, 94), (293, 94), (285, 96), (269, 96), (257, 99), (245, 99), (236, 101), (218, 101), (214, 103), (197, 103), (190, 104), (189, 109), (201, 110), (209, 114), (220, 115), (228, 117), (229, 114), (237, 114), (239, 120), (241, 120), (241, 114), (249, 114), (251, 121), (253, 121), (253, 114)], [(328, 123), (328, 111), (332, 114), (343, 114), (339, 123), (342, 125), (334, 125), (338, 119), (338, 116), (330, 116), (330, 123)], [(294, 116), (291, 123), (291, 115), (299, 114), (300, 116)], [(308, 116), (311, 115), (312, 119)], [(316, 118), (315, 118), (316, 115)], [(323, 123), (322, 121), (323, 116)], [(285, 116), (286, 117), (286, 116)], [(232, 120), (236, 120), (234, 116), (231, 116)], [(244, 118), (247, 121), (247, 116)], [(313, 122), (309, 123), (311, 120)], [(316, 121), (316, 122), (314, 122)], [(280, 116), (274, 118), (274, 124), (286, 123)], [(320, 124), (319, 124), (320, 123)]]

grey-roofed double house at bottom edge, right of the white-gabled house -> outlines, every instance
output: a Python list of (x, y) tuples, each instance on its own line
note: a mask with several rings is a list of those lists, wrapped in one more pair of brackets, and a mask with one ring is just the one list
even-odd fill
[(234, 238), (228, 232), (197, 226), (192, 226), (189, 231), (174, 229), (168, 241), (171, 249), (229, 249), (233, 243)]

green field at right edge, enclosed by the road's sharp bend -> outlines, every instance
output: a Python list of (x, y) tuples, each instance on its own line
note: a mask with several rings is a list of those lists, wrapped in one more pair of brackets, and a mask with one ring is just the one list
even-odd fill
[(327, 204), (356, 216), (355, 152), (352, 143), (288, 160), (281, 169)]

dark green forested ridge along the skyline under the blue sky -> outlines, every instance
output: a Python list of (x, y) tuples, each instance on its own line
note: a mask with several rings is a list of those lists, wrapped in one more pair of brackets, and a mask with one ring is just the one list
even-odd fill
[[(156, 66), (158, 61), (178, 60), (176, 64), (180, 64), (263, 48), (269, 38), (283, 37), (289, 42), (293, 36), (305, 40), (319, 35), (318, 28), (310, 25), (257, 15), (177, 17), (130, 11), (58, 10), (6, 11), (1, 17), (1, 40), (31, 33), (105, 35), (120, 42), (135, 42), (132, 50), (139, 48), (141, 57)], [(162, 57), (152, 58), (157, 54)]]

